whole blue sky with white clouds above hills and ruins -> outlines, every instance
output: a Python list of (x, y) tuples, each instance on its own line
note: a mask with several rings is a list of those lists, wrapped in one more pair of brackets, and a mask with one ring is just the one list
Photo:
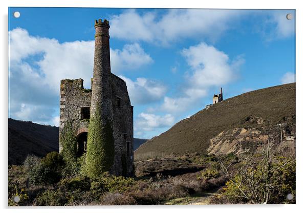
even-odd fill
[(58, 126), (60, 79), (90, 87), (98, 18), (111, 25), (135, 137), (165, 132), (220, 87), (226, 99), (295, 81), (294, 10), (9, 8), (9, 117)]

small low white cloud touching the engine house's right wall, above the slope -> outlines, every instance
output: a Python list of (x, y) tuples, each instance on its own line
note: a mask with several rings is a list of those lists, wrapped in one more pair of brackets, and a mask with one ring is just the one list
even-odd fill
[(136, 121), (135, 129), (137, 131), (153, 131), (163, 127), (173, 125), (174, 117), (171, 114), (155, 115), (140, 113)]

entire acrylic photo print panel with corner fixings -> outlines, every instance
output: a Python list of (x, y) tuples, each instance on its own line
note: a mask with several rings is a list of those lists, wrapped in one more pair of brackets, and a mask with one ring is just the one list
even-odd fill
[(295, 10), (14, 7), (9, 57), (9, 206), (295, 203)]

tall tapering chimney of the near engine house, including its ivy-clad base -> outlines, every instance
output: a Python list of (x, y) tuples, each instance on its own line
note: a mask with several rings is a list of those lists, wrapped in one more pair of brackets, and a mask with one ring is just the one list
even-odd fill
[(90, 177), (98, 177), (104, 172), (114, 173), (115, 139), (108, 31), (109, 22), (106, 19), (103, 22), (101, 19), (95, 20), (93, 82), (85, 160)]

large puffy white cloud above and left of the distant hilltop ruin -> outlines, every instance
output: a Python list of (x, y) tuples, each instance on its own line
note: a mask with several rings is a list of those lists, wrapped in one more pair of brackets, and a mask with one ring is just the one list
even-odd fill
[(210, 87), (229, 83), (237, 76), (239, 67), (244, 63), (242, 56), (230, 60), (223, 51), (204, 42), (183, 49), (191, 72), (186, 74), (186, 84), (178, 97), (165, 97), (161, 110), (168, 113), (183, 112), (204, 98)]

